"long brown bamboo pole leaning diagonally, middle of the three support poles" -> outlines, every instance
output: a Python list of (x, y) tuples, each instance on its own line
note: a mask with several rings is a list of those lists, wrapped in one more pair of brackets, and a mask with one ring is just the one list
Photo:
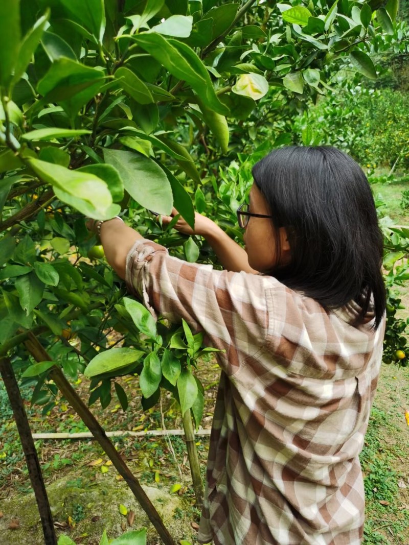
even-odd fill
[[(52, 358), (49, 356), (49, 354), (47, 354), (46, 350), (34, 337), (34, 335), (30, 334), (25, 344), (28, 352), (36, 361), (52, 361)], [(149, 517), (149, 520), (151, 520), (165, 545), (176, 545), (169, 531), (166, 529), (158, 511), (155, 509), (151, 500), (149, 500), (145, 490), (143, 490), (139, 480), (137, 480), (131, 473), (127, 464), (124, 462), (119, 452), (115, 449), (115, 446), (113, 446), (110, 439), (107, 438), (103, 427), (100, 426), (97, 419), (95, 419), (87, 405), (82, 401), (74, 388), (64, 377), (61, 370), (58, 367), (52, 367), (49, 372), (49, 377), (54, 381), (58, 389), (64, 395), (65, 399), (67, 399), (67, 401), (70, 403), (71, 407), (73, 407), (76, 413), (81, 417), (82, 421), (86, 424), (95, 439), (97, 439), (106, 455), (112, 461), (112, 464), (115, 466), (119, 475), (121, 475), (124, 481), (127, 482), (129, 488), (135, 495), (135, 498), (139, 501), (143, 511), (145, 511)]]

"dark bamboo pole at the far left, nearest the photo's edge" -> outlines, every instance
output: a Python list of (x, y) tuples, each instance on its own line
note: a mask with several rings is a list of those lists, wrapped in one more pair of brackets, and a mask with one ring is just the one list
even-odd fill
[(44, 543), (45, 545), (57, 545), (57, 536), (54, 529), (54, 523), (52, 520), (43, 475), (41, 474), (37, 451), (35, 450), (34, 440), (31, 435), (31, 429), (28, 423), (19, 385), (17, 384), (9, 358), (0, 358), (0, 374), (3, 378), (4, 386), (10, 399), (10, 405), (11, 409), (13, 409), (17, 431), (20, 435), (21, 446), (26, 457), (28, 475), (33, 487), (35, 501), (37, 501), (41, 526), (43, 526)]

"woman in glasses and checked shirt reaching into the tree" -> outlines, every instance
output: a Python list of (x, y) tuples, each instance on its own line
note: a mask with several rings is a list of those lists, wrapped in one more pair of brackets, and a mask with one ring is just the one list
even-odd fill
[[(97, 222), (101, 241), (152, 313), (225, 351), (199, 541), (358, 545), (358, 455), (384, 333), (374, 200), (330, 147), (276, 149), (252, 173), (238, 210), (245, 249), (195, 217), (224, 271), (170, 257), (118, 219)], [(193, 233), (183, 219), (176, 228)]]

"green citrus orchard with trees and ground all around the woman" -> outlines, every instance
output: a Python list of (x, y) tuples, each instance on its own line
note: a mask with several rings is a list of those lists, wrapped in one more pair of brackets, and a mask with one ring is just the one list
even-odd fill
[[(365, 543), (409, 541), (408, 19), (407, 0), (0, 3), (2, 543), (195, 541), (212, 349), (127, 296), (85, 217), (121, 214), (219, 267), (149, 210), (193, 225), (196, 209), (240, 243), (251, 167), (288, 144), (344, 149), (374, 188), (392, 365), (362, 455)], [(99, 445), (32, 444), (25, 412), (33, 432), (89, 428)], [(166, 428), (184, 439), (148, 433)]]

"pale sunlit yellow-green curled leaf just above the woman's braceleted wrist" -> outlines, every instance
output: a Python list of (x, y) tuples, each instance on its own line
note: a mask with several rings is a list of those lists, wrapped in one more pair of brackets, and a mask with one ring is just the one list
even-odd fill
[(69, 200), (67, 197), (69, 195), (83, 199), (95, 211), (94, 215), (100, 214), (101, 219), (105, 219), (102, 216), (106, 215), (112, 204), (111, 193), (105, 181), (93, 174), (71, 171), (61, 165), (53, 165), (39, 159), (29, 159), (29, 165), (41, 179), (54, 187), (57, 197), (63, 202)]

